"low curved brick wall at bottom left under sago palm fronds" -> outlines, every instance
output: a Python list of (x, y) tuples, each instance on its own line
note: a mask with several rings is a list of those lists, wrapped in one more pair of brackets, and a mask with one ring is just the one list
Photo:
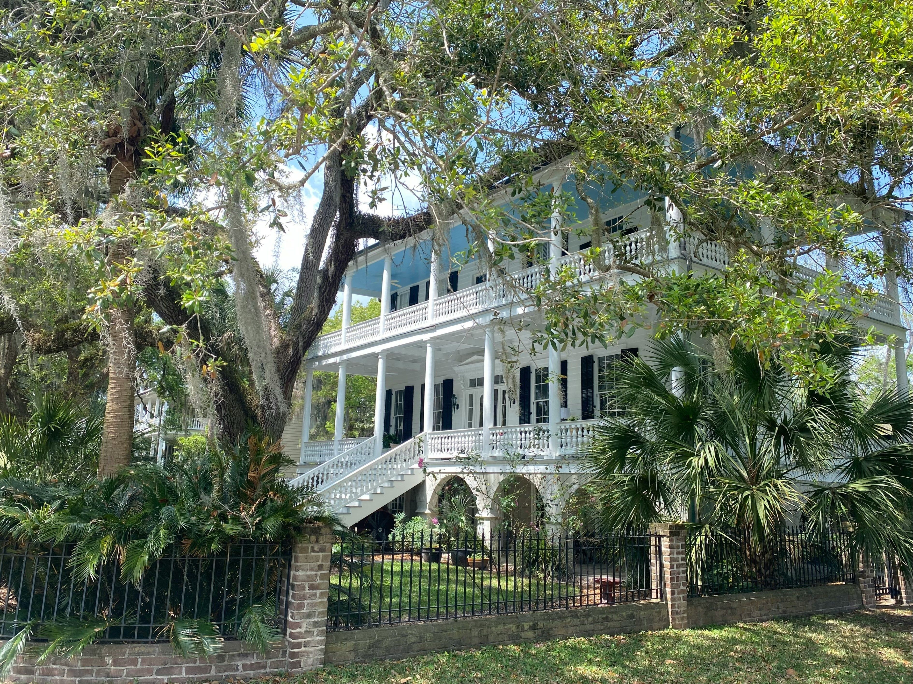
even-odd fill
[(13, 666), (7, 679), (36, 684), (102, 684), (136, 679), (143, 684), (194, 682), (227, 677), (261, 677), (286, 669), (285, 648), (266, 658), (240, 641), (226, 641), (225, 651), (208, 659), (174, 655), (171, 644), (95, 644), (80, 658), (51, 658), (41, 667), (29, 661)]

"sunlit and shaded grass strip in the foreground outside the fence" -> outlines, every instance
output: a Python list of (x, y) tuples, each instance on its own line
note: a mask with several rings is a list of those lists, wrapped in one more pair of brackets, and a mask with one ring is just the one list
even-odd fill
[[(268, 679), (267, 681), (277, 681)], [(913, 610), (438, 653), (325, 668), (278, 684), (754, 684), (913, 682)]]

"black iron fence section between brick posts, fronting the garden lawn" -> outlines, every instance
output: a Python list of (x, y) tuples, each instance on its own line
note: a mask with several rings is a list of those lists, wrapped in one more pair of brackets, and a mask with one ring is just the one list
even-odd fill
[(662, 596), (651, 534), (419, 534), (333, 547), (330, 630), (598, 606)]

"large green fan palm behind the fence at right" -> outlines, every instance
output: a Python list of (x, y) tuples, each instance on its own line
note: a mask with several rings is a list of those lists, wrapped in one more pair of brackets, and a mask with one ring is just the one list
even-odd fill
[(913, 401), (863, 400), (852, 337), (821, 340), (833, 384), (814, 389), (741, 347), (725, 364), (676, 337), (618, 368), (624, 415), (597, 427), (589, 456), (602, 523), (683, 520), (765, 548), (784, 526), (849, 531), (855, 551), (913, 567)]

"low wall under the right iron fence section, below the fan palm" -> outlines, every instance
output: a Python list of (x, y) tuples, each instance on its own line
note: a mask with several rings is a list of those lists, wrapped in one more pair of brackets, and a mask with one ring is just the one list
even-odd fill
[(841, 613), (863, 606), (858, 585), (806, 586), (750, 594), (692, 596), (687, 600), (688, 627), (761, 622), (774, 617)]

